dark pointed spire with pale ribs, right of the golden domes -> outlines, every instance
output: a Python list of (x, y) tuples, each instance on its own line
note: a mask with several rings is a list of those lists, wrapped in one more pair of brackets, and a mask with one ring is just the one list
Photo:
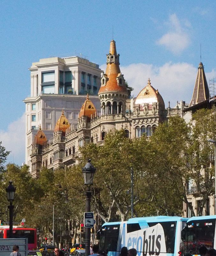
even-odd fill
[(208, 83), (205, 77), (203, 63), (200, 62), (198, 67), (198, 72), (197, 72), (197, 79), (194, 85), (193, 96), (190, 101), (189, 108), (192, 105), (200, 103), (207, 99), (209, 99), (209, 88), (208, 88)]

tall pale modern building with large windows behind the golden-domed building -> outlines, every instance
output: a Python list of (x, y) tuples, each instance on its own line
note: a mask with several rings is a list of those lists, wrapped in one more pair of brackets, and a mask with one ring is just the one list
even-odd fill
[(80, 57), (46, 58), (33, 62), (31, 95), (26, 103), (26, 164), (30, 166), (30, 150), (39, 127), (49, 139), (64, 110), (70, 124), (77, 124), (86, 94), (97, 110), (101, 109), (98, 90), (101, 85), (99, 65)]

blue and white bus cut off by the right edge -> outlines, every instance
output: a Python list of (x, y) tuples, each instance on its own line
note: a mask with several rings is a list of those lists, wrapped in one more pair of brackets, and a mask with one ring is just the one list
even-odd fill
[(181, 248), (185, 256), (199, 255), (199, 248), (205, 245), (207, 249), (216, 249), (215, 232), (216, 215), (191, 217), (182, 230)]

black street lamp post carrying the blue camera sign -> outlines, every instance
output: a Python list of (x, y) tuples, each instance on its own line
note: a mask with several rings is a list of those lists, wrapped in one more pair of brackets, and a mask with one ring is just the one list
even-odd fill
[[(86, 212), (91, 211), (91, 191), (90, 191), (90, 186), (93, 185), (93, 178), (94, 178), (94, 173), (96, 171), (96, 168), (91, 164), (91, 159), (89, 159), (85, 165), (85, 167), (82, 168), (83, 172), (83, 177), (84, 177), (84, 184), (87, 186), (86, 189)], [(86, 239), (85, 239), (85, 244), (86, 244), (86, 256), (90, 255), (90, 228), (86, 228)], [(81, 242), (81, 241), (80, 241)]]

